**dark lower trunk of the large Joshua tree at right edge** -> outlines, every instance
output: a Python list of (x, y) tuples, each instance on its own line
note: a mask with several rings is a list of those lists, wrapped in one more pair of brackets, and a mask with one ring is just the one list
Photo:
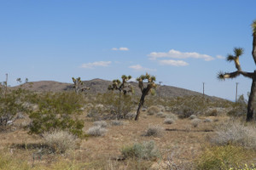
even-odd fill
[(251, 93), (250, 93), (250, 96), (249, 96), (249, 99), (248, 99), (247, 122), (253, 120), (253, 112), (254, 112), (253, 100), (255, 98), (255, 93), (256, 93), (256, 71), (254, 71)]

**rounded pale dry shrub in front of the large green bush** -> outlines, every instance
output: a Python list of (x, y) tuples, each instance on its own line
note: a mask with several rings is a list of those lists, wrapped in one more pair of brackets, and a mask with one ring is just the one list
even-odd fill
[(65, 153), (67, 150), (73, 150), (77, 146), (77, 139), (71, 133), (62, 130), (43, 133), (45, 144), (54, 153)]

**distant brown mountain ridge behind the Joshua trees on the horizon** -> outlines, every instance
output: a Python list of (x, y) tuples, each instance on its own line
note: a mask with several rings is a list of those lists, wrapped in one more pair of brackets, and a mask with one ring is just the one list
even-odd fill
[[(87, 91), (88, 94), (104, 94), (108, 90), (108, 85), (111, 84), (110, 81), (102, 80), (99, 78), (83, 81), (84, 86), (89, 87), (90, 90)], [(137, 86), (137, 82), (130, 82), (134, 87), (135, 94), (140, 95), (141, 91)], [(18, 86), (19, 87), (19, 86)], [(14, 88), (18, 88), (14, 87)], [(36, 92), (61, 92), (61, 91), (71, 91), (73, 90), (73, 84), (64, 82), (54, 82), (54, 81), (40, 81), (40, 82), (30, 82), (22, 85), (22, 88), (36, 91)], [(159, 94), (159, 87), (156, 89), (156, 94)], [(191, 91), (184, 88), (177, 88), (172, 86), (161, 86), (160, 95), (162, 97), (177, 97), (177, 96), (187, 96), (187, 95), (202, 95), (201, 93)], [(213, 97), (216, 98), (216, 97)]]

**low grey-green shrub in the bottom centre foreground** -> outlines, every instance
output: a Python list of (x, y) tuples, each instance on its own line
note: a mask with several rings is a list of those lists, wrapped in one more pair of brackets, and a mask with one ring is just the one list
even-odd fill
[(138, 158), (139, 160), (152, 160), (160, 156), (153, 140), (125, 146), (121, 149), (121, 153), (125, 158)]

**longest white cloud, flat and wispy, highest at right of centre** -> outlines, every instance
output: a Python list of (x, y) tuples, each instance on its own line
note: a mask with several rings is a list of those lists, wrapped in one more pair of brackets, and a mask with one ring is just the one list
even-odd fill
[(151, 54), (148, 54), (149, 59), (158, 59), (158, 58), (172, 58), (172, 59), (188, 59), (188, 58), (194, 58), (194, 59), (205, 59), (206, 61), (210, 61), (214, 59), (212, 56), (207, 54), (198, 54), (198, 53), (183, 53), (174, 49), (171, 49), (168, 52), (152, 52)]

